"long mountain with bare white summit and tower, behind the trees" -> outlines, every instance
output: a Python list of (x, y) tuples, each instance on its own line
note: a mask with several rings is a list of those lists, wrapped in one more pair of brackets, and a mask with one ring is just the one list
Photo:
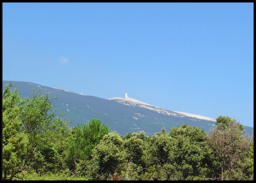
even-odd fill
[[(3, 90), (6, 84), (9, 84), (9, 81), (3, 81)], [(32, 97), (32, 89), (37, 92), (41, 88), (42, 94), (51, 92), (49, 97), (58, 97), (52, 102), (52, 109), (58, 109), (57, 114), (65, 113), (63, 119), (72, 120), (70, 127), (77, 126), (79, 123), (88, 123), (91, 118), (96, 118), (107, 124), (111, 132), (116, 131), (122, 136), (128, 132), (141, 131), (151, 136), (160, 132), (163, 127), (169, 132), (172, 127), (187, 124), (198, 126), (205, 132), (209, 132), (215, 126), (213, 118), (162, 109), (128, 97), (127, 94), (124, 98), (103, 99), (22, 81), (15, 81), (12, 89), (15, 88), (22, 97), (29, 98)], [(247, 134), (253, 135), (253, 127), (244, 127)]]

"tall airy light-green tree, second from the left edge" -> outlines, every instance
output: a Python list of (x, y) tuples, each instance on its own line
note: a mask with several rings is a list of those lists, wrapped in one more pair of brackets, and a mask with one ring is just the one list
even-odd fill
[[(26, 97), (22, 110), (23, 132), (28, 134), (24, 164), (31, 166), (37, 173), (52, 171), (58, 156), (55, 143), (68, 133), (70, 120), (62, 120), (64, 114), (55, 115), (52, 111), (52, 102), (57, 97), (49, 97), (49, 92), (41, 94), (41, 88), (35, 93), (32, 89), (32, 98)], [(58, 162), (58, 161), (57, 161)]]

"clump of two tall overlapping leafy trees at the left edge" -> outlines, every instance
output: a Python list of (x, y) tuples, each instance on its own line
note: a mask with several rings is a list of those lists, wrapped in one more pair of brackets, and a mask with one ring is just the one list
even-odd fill
[(17, 90), (3, 91), (3, 179), (23, 178), (24, 171), (56, 173), (65, 167), (69, 121), (51, 111), (48, 93), (32, 91), (21, 99)]

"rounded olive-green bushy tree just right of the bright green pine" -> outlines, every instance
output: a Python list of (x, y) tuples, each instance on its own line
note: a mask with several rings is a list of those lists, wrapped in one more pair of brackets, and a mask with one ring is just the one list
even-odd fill
[(123, 139), (116, 132), (106, 134), (92, 151), (92, 159), (79, 164), (78, 171), (88, 180), (110, 180), (120, 175), (127, 162)]

